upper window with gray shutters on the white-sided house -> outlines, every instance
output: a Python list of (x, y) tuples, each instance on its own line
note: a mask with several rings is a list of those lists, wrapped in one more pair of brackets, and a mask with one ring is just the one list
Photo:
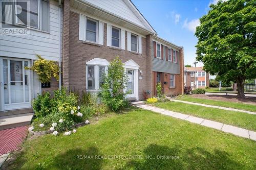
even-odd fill
[[(49, 0), (15, 1), (2, 4), (2, 22), (49, 32)], [(41, 7), (41, 8), (39, 8)], [(14, 16), (14, 18), (12, 17)]]

